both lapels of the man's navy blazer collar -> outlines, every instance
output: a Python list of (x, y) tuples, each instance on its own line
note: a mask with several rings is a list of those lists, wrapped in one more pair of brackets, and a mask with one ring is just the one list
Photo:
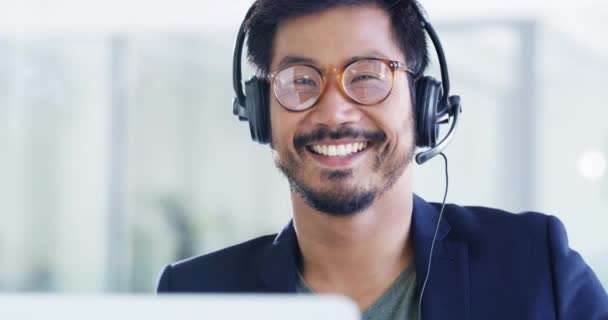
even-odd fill
[[(418, 295), (427, 274), (431, 242), (440, 208), (440, 205), (429, 204), (414, 195), (411, 232)], [(422, 315), (425, 320), (468, 319), (470, 315), (468, 247), (465, 241), (450, 236), (452, 227), (447, 219), (447, 205), (445, 211), (439, 225), (431, 272), (422, 298)], [(290, 221), (261, 256), (260, 279), (263, 291), (294, 293), (300, 263), (301, 253), (293, 221)]]

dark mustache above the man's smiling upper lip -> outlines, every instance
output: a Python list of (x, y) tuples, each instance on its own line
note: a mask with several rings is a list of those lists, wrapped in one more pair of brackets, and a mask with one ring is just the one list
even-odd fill
[(324, 139), (343, 139), (364, 138), (372, 143), (382, 143), (386, 141), (386, 134), (383, 131), (365, 131), (363, 129), (353, 128), (349, 126), (341, 127), (337, 130), (330, 130), (328, 127), (319, 127), (310, 133), (299, 134), (293, 138), (293, 145), (296, 150), (301, 150), (306, 145)]

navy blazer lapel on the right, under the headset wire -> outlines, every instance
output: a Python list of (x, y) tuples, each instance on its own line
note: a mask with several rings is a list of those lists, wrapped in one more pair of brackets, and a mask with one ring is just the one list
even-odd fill
[[(429, 266), (429, 253), (440, 206), (432, 206), (414, 195), (412, 215), (416, 291), (420, 291)], [(469, 319), (468, 247), (463, 240), (449, 236), (446, 206), (433, 249), (429, 278), (422, 297), (422, 319)]]

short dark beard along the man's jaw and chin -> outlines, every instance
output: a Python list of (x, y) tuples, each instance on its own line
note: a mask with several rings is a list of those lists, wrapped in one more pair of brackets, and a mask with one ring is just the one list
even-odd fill
[[(275, 154), (274, 162), (276, 167), (287, 178), (292, 192), (297, 193), (310, 207), (330, 216), (348, 217), (369, 208), (376, 199), (388, 191), (401, 175), (403, 175), (405, 168), (411, 163), (414, 151), (415, 145), (411, 142), (411, 147), (402, 157), (395, 159), (394, 163), (387, 164), (386, 162), (390, 161), (390, 150), (387, 148), (387, 145), (384, 145), (383, 149), (378, 150), (373, 170), (378, 172), (382, 170), (383, 165), (388, 165), (387, 167), (384, 167), (386, 169), (386, 172), (384, 173), (385, 181), (382, 186), (368, 190), (360, 187), (355, 187), (350, 190), (339, 188), (332, 190), (315, 190), (305, 183), (302, 174), (302, 165), (294, 154), (286, 153), (284, 159), (281, 159), (278, 154)], [(301, 149), (298, 153), (301, 152), (305, 151)], [(350, 169), (325, 169), (321, 172), (322, 179), (336, 182), (350, 178), (352, 175), (353, 172)]]

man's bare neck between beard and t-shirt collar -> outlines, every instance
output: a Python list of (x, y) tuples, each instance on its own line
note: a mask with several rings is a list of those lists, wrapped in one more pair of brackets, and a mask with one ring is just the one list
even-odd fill
[(413, 259), (410, 169), (370, 208), (349, 217), (309, 207), (295, 194), (302, 273), (313, 290), (350, 296), (363, 310)]

